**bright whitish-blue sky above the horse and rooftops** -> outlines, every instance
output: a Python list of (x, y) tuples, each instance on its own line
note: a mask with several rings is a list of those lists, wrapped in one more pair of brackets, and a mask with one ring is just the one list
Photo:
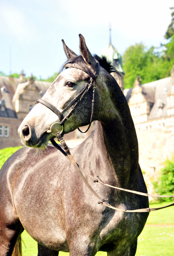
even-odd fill
[(167, 43), (173, 0), (0, 0), (0, 71), (46, 79), (66, 61), (62, 39), (79, 54), (79, 34), (90, 52), (111, 43), (120, 54), (142, 42)]

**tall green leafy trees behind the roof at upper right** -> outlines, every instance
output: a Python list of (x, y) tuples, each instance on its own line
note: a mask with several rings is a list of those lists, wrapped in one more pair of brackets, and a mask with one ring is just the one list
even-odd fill
[(142, 84), (170, 76), (170, 70), (174, 65), (174, 12), (171, 15), (172, 21), (166, 32), (168, 37), (165, 35), (165, 38), (169, 38), (168, 43), (149, 49), (143, 43), (139, 43), (129, 46), (125, 51), (125, 88), (133, 87), (137, 75), (142, 78)]

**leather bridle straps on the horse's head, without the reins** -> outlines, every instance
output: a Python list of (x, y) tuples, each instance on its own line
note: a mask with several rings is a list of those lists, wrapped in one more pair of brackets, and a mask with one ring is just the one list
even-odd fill
[[(99, 64), (96, 63), (97, 65), (97, 69), (95, 71), (95, 77), (97, 77), (98, 75), (98, 69), (99, 69)], [(87, 71), (80, 67), (79, 65), (77, 65), (76, 63), (68, 63), (65, 68), (77, 68), (77, 69), (81, 69), (83, 70), (85, 73), (87, 73)], [(88, 73), (87, 73), (88, 74)], [(86, 94), (88, 94), (90, 87), (92, 86), (93, 83), (93, 97), (92, 97), (92, 110), (91, 110), (91, 118), (90, 118), (90, 123), (88, 126), (88, 129), (85, 131), (87, 132), (90, 129), (91, 123), (92, 123), (92, 119), (93, 119), (93, 114), (94, 114), (94, 93), (95, 93), (95, 81), (92, 79), (92, 77), (90, 78), (90, 84), (86, 83), (85, 86), (83, 87), (83, 89), (81, 90), (81, 92), (79, 94), (76, 95), (76, 97), (66, 106), (66, 108), (64, 108), (64, 110), (62, 112), (60, 112), (55, 106), (53, 106), (51, 103), (49, 103), (46, 100), (43, 99), (39, 99), (37, 100), (35, 103), (41, 103), (42, 105), (44, 105), (45, 107), (49, 108), (51, 111), (53, 111), (59, 118), (60, 122), (56, 122), (53, 123), (50, 127), (50, 132), (52, 132), (54, 135), (56, 135), (57, 132), (59, 132), (60, 134), (62, 134), (62, 136), (64, 135), (64, 124), (65, 122), (68, 120), (68, 118), (74, 113), (75, 108), (79, 105), (80, 102), (82, 102), (82, 100), (84, 99), (84, 97), (86, 96)], [(63, 114), (65, 113), (65, 111), (67, 111), (70, 107), (71, 110), (68, 111), (68, 114), (64, 117)], [(80, 132), (82, 132), (79, 128), (78, 130)], [(82, 133), (85, 133), (82, 132)]]

